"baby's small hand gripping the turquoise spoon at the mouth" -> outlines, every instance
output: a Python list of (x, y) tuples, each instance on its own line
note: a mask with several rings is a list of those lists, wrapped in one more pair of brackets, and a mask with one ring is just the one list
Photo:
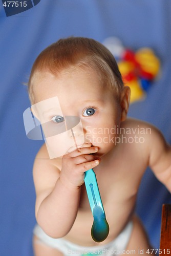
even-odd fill
[(91, 143), (83, 144), (77, 150), (62, 157), (60, 180), (66, 186), (79, 187), (84, 183), (84, 172), (94, 168), (100, 162), (100, 158), (90, 155), (98, 152), (98, 147)]

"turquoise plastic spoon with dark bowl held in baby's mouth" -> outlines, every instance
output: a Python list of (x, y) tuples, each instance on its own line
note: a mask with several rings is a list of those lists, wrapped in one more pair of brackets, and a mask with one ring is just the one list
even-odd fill
[(106, 237), (108, 237), (109, 224), (105, 219), (105, 212), (98, 189), (96, 175), (93, 169), (87, 170), (84, 182), (94, 218), (91, 235), (95, 242), (102, 242)]

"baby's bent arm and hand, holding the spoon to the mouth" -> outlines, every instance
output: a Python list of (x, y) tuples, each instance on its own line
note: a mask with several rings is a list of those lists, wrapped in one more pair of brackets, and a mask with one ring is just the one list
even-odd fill
[(33, 168), (35, 215), (37, 223), (49, 236), (59, 238), (70, 231), (77, 215), (84, 172), (99, 164), (99, 158), (90, 155), (97, 151), (91, 143), (84, 144), (63, 156), (61, 171), (46, 153), (36, 157)]

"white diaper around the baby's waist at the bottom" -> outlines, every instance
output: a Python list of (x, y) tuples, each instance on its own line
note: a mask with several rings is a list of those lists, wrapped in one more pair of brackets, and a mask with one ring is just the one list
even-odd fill
[(49, 237), (40, 226), (36, 225), (33, 233), (39, 238), (39, 242), (43, 242), (46, 245), (56, 248), (61, 251), (64, 255), (77, 255), (83, 256), (86, 254), (95, 254), (95, 255), (120, 255), (127, 247), (127, 244), (130, 240), (130, 236), (133, 229), (133, 222), (130, 221), (119, 236), (114, 239), (112, 242), (99, 246), (79, 246), (74, 243), (71, 243), (63, 238), (51, 238)]

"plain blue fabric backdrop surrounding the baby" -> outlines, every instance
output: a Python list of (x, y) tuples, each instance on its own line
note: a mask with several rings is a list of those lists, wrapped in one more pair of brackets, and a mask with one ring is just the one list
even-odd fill
[[(27, 139), (23, 112), (36, 56), (61, 37), (86, 36), (102, 42), (117, 36), (126, 47), (151, 47), (162, 62), (161, 78), (129, 116), (156, 125), (171, 143), (171, 2), (169, 0), (41, 0), (6, 17), (0, 3), (0, 255), (32, 256), (35, 191), (32, 165), (42, 141)], [(152, 245), (159, 248), (161, 207), (171, 203), (164, 186), (147, 169), (137, 200)]]

